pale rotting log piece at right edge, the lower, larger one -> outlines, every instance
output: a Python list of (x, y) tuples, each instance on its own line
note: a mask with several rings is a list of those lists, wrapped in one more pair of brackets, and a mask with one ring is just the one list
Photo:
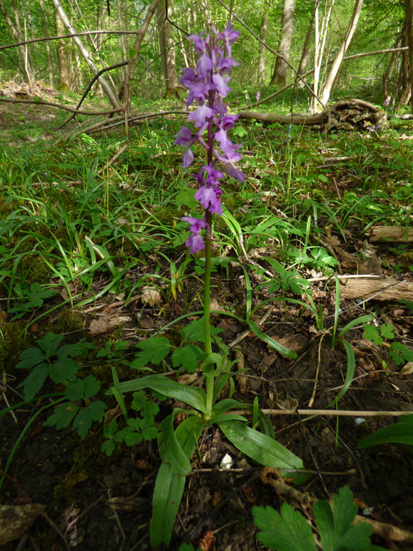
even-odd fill
[(413, 300), (413, 282), (385, 279), (349, 279), (340, 289), (340, 300), (368, 298), (374, 300)]

